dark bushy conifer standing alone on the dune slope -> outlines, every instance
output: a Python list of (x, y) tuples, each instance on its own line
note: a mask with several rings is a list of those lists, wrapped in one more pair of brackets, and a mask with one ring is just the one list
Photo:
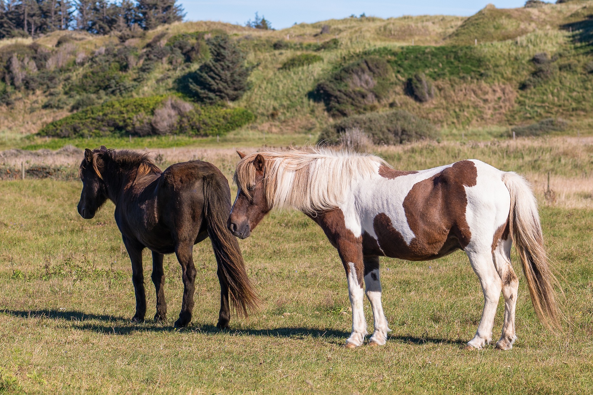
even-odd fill
[(244, 65), (243, 52), (228, 36), (215, 36), (207, 43), (212, 57), (189, 78), (190, 91), (206, 103), (237, 100), (249, 88), (252, 68)]

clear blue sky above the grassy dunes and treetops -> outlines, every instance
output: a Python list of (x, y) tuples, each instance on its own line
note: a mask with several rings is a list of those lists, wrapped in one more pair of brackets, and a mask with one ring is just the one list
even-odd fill
[(331, 18), (345, 18), (351, 14), (388, 18), (401, 15), (472, 15), (492, 2), (497, 8), (522, 7), (525, 0), (471, 1), (471, 0), (178, 0), (187, 12), (186, 20), (211, 20), (245, 24), (256, 11), (282, 29), (292, 24), (313, 23)]

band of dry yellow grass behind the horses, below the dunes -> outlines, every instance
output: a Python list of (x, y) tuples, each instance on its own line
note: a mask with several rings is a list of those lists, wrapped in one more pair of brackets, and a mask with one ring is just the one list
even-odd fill
[[(236, 148), (175, 147), (145, 149), (144, 152), (152, 152), (161, 166), (192, 159), (206, 160), (218, 166), (231, 179), (238, 161), (237, 149), (250, 153), (267, 147), (254, 143)], [(480, 159), (501, 170), (517, 171), (527, 176), (542, 204), (562, 208), (593, 208), (593, 137), (419, 142), (401, 146), (375, 146), (372, 151), (395, 168), (403, 170), (426, 169), (461, 159)], [(76, 149), (0, 152), (0, 163), (16, 167), (21, 162), (28, 166), (78, 166), (81, 159), (82, 150)], [(544, 197), (548, 172), (555, 200), (546, 200)]]

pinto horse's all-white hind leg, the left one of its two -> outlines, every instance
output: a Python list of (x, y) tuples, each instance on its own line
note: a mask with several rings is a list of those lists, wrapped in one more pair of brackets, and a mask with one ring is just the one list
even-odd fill
[(470, 258), (471, 267), (480, 279), (482, 292), (484, 293), (482, 319), (480, 319), (476, 336), (467, 345), (473, 348), (482, 348), (484, 344), (492, 341), (492, 326), (494, 326), (494, 317), (500, 299), (502, 281), (500, 281), (498, 272), (496, 272), (490, 246), (482, 248), (481, 251), (477, 252), (471, 252), (466, 249), (466, 252)]

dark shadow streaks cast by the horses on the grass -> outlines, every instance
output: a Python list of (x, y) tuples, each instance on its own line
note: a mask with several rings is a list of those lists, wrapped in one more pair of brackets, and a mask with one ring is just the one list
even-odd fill
[[(75, 310), (0, 310), (0, 313), (9, 314), (20, 318), (44, 318), (54, 320), (68, 320), (72, 326), (80, 330), (91, 330), (104, 335), (130, 335), (135, 332), (195, 332), (214, 335), (216, 333), (228, 333), (234, 336), (266, 336), (270, 338), (333, 338), (346, 339), (350, 332), (330, 328), (310, 328), (310, 327), (279, 327), (274, 329), (219, 329), (214, 325), (195, 324), (183, 329), (176, 329), (171, 323), (154, 323), (147, 320), (145, 323), (136, 324), (130, 322), (128, 318), (110, 316), (108, 314), (87, 314)], [(94, 320), (103, 323), (95, 324), (85, 321)], [(168, 325), (167, 325), (168, 324)], [(398, 343), (413, 344), (450, 344), (464, 346), (466, 342), (461, 339), (451, 340), (444, 338), (431, 338), (428, 336), (389, 336), (388, 341)]]

